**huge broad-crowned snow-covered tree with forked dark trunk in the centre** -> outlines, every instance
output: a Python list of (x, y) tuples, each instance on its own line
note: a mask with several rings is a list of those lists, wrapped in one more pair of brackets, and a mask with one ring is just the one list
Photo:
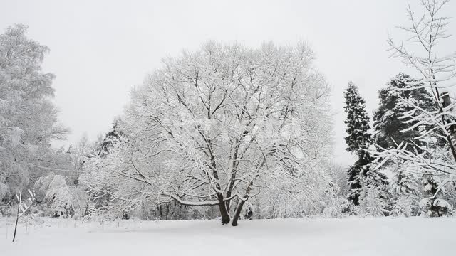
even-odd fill
[(129, 136), (93, 159), (86, 183), (109, 187), (116, 209), (145, 201), (218, 206), (232, 225), (266, 188), (296, 196), (314, 188), (303, 183), (325, 186), (318, 177), (331, 150), (329, 87), (313, 59), (305, 44), (213, 42), (165, 58), (132, 92), (122, 117)]

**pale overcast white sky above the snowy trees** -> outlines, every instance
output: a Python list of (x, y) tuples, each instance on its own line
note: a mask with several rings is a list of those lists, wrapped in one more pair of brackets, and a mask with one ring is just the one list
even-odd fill
[[(43, 68), (57, 76), (55, 102), (61, 122), (71, 128), (69, 142), (85, 132), (90, 139), (107, 132), (130, 88), (160, 67), (162, 57), (194, 50), (209, 39), (253, 47), (308, 41), (333, 86), (335, 161), (351, 164), (343, 142), (343, 89), (355, 82), (372, 117), (380, 87), (408, 71), (400, 60), (388, 58), (386, 39), (395, 26), (407, 23), (409, 3), (417, 6), (418, 0), (2, 0), (0, 29), (27, 23), (28, 35), (51, 48)], [(456, 14), (456, 3), (446, 12)]]

